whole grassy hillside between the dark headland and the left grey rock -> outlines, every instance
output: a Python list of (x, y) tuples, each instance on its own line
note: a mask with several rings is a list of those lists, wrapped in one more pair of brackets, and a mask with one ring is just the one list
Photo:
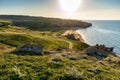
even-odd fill
[[(19, 28), (11, 26), (7, 28), (0, 28), (0, 43), (7, 44), (9, 46), (18, 47), (25, 43), (37, 43), (44, 46), (45, 50), (56, 50), (59, 47), (69, 48), (70, 43), (73, 44), (74, 50), (83, 50), (88, 47), (87, 44), (68, 40), (64, 37), (55, 36), (58, 32), (48, 31), (32, 31), (25, 28)], [(81, 46), (82, 45), (82, 46)]]

